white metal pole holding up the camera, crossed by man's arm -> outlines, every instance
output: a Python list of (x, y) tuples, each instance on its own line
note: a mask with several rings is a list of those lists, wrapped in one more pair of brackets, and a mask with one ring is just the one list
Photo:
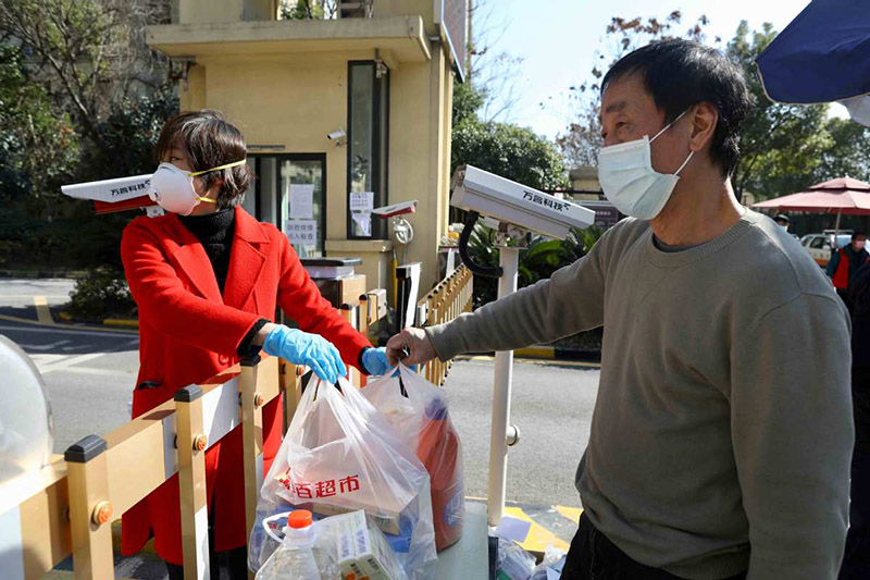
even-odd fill
[[(517, 291), (520, 248), (500, 246), (502, 274), (498, 280), (498, 297)], [(487, 520), (498, 526), (505, 510), (505, 483), (508, 476), (508, 424), (510, 423), (510, 391), (513, 350), (496, 353), (496, 373), (493, 388), (493, 429), (489, 434), (489, 490)]]

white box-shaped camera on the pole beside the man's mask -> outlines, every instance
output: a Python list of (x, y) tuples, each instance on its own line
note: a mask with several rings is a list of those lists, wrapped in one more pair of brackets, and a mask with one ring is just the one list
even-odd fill
[(452, 188), (451, 206), (545, 236), (563, 239), (595, 223), (593, 210), (472, 165), (457, 168)]

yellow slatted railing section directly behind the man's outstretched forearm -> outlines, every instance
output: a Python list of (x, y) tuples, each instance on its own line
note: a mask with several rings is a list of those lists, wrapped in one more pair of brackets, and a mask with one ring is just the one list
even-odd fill
[[(452, 274), (442, 280), (418, 303), (418, 325), (434, 326), (449, 322), (462, 312), (471, 312), (473, 281), (471, 270), (464, 266), (460, 266)], [(452, 363), (452, 360), (447, 362), (431, 360), (420, 372), (432, 384), (443, 386)]]

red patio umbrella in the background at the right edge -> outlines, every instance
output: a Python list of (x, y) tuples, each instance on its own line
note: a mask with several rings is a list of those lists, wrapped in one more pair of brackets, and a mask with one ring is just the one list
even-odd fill
[(834, 230), (840, 231), (841, 215), (870, 215), (870, 184), (852, 177), (837, 177), (816, 184), (806, 192), (759, 201), (753, 207), (779, 211), (836, 213)]

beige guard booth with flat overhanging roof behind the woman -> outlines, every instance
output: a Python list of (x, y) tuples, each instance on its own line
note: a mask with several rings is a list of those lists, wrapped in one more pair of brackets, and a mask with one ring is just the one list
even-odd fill
[(360, 257), (391, 287), (393, 240), (373, 208), (419, 200), (407, 260), (438, 282), (447, 233), (453, 75), (465, 0), (337, 2), (281, 20), (276, 0), (178, 0), (147, 41), (179, 78), (182, 110), (219, 109), (245, 133), (257, 176), (246, 209), (302, 257)]

